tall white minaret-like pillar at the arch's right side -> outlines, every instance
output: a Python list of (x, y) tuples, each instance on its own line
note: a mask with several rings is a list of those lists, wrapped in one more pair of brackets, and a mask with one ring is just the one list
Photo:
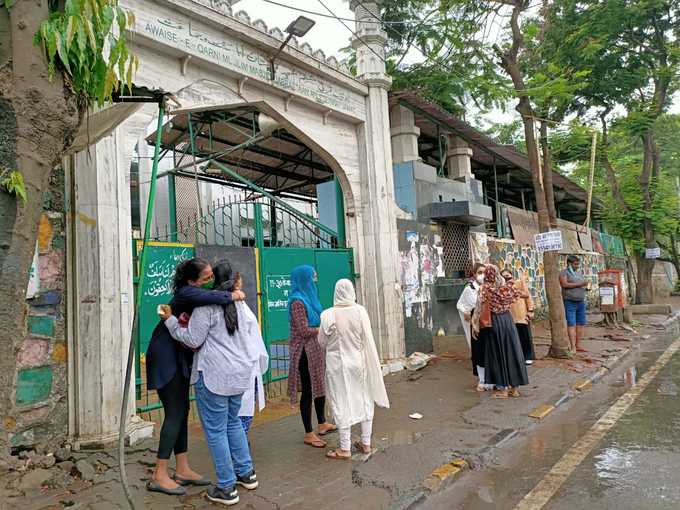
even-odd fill
[(391, 79), (385, 69), (387, 34), (375, 23), (375, 0), (351, 0), (356, 17), (352, 46), (358, 78), (368, 86), (366, 123), (359, 128), (363, 258), (360, 284), (373, 332), (385, 360), (404, 355), (404, 315), (400, 285), (396, 203), (392, 170), (389, 105)]

